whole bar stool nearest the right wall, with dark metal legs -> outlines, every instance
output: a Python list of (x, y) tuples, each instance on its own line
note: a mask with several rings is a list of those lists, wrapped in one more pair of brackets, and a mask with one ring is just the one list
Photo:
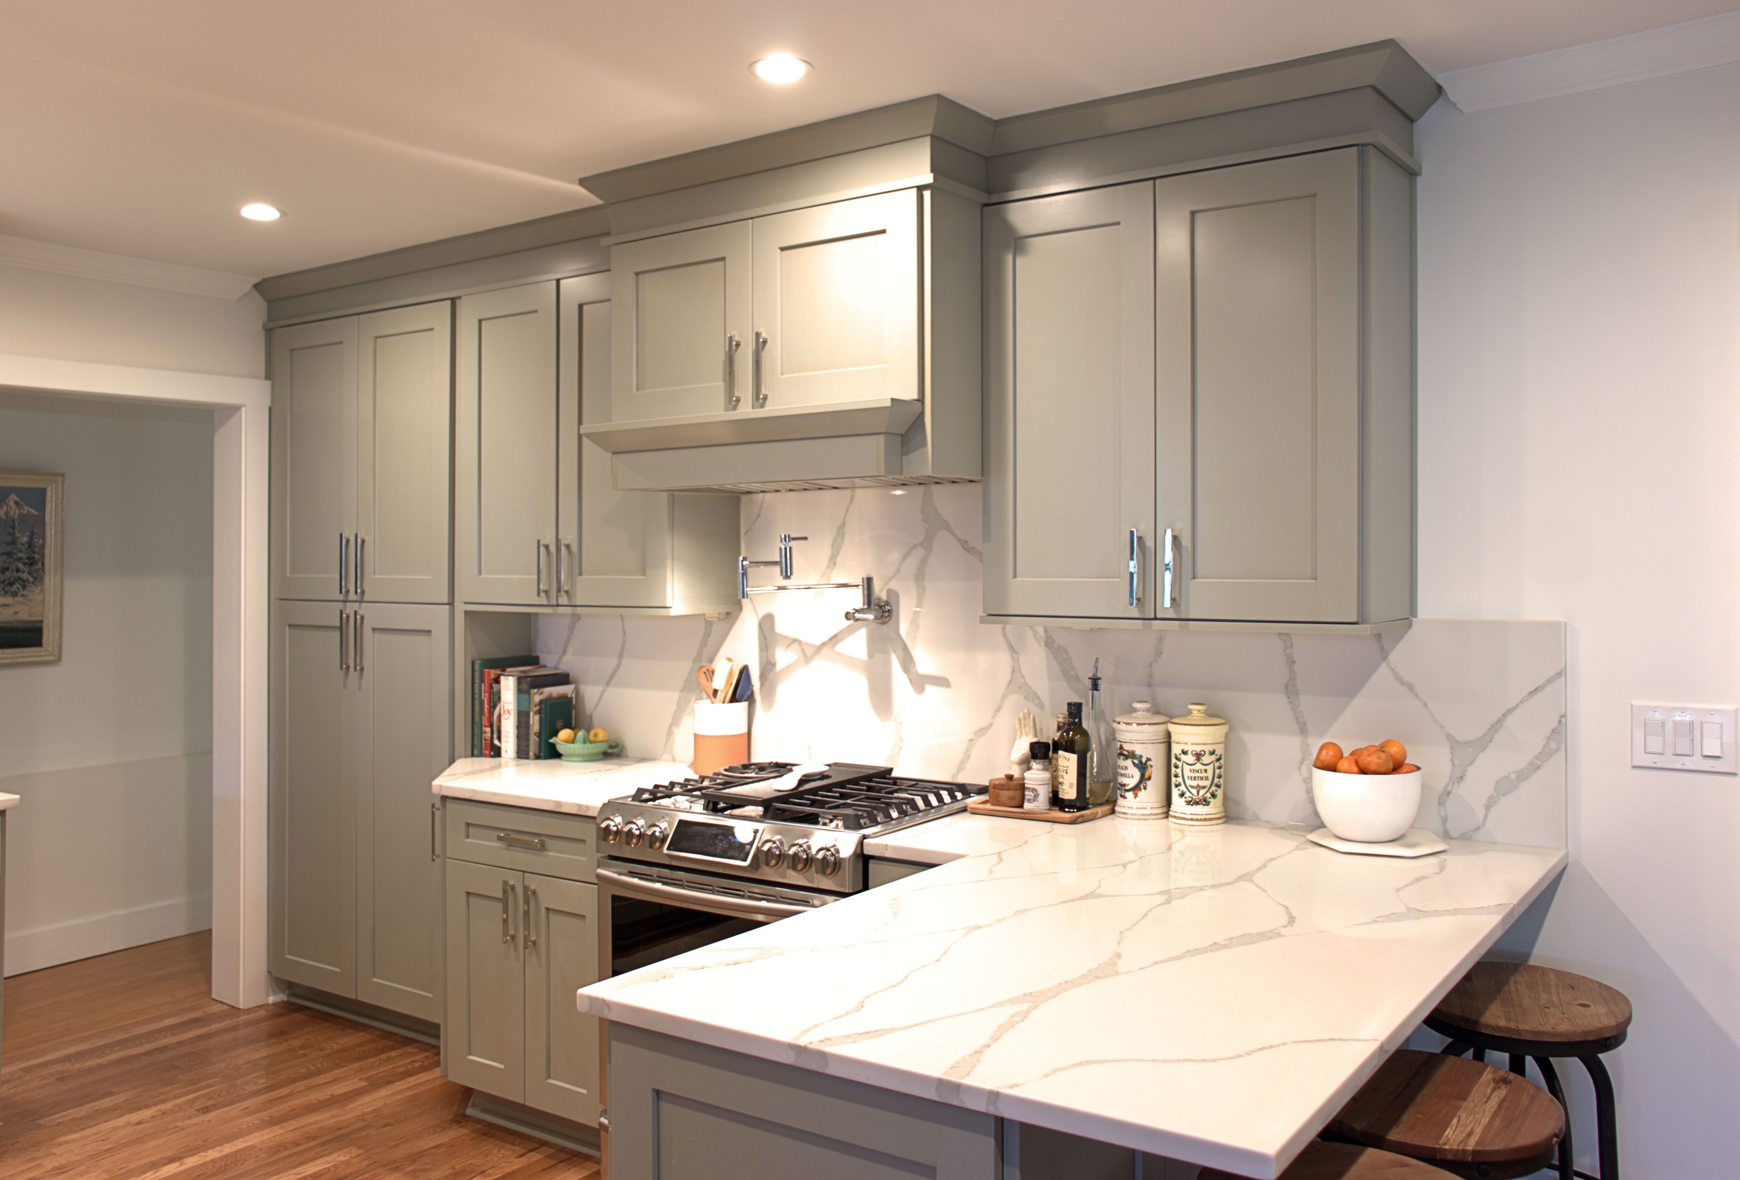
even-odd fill
[[(1564, 1105), (1564, 1090), (1552, 1067), (1554, 1057), (1575, 1057), (1596, 1086), (1596, 1147), (1601, 1180), (1620, 1180), (1618, 1126), (1613, 1079), (1601, 1055), (1625, 1043), (1630, 999), (1587, 975), (1573, 975), (1533, 963), (1476, 963), (1425, 1018), (1425, 1027), (1448, 1036), (1446, 1053), (1474, 1050), (1509, 1053), (1510, 1071), (1528, 1072), (1528, 1058), (1540, 1067), (1547, 1090)], [(1559, 1145), (1559, 1177), (1587, 1173), (1571, 1166), (1571, 1123), (1566, 1109), (1564, 1142)]]

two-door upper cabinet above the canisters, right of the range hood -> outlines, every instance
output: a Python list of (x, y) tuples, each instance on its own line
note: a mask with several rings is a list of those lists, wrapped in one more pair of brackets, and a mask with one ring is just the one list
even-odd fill
[(1411, 613), (1399, 167), (1345, 148), (1016, 202), (985, 247), (987, 615)]

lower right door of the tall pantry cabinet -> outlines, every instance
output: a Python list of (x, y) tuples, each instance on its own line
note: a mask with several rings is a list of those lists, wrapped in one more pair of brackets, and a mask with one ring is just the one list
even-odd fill
[(445, 607), (358, 603), (345, 742), (357, 805), (357, 999), (440, 1022), (430, 782), (452, 761)]

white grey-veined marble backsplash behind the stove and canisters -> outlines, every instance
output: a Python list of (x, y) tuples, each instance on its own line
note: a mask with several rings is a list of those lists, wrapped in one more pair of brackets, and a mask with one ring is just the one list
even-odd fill
[(545, 615), (538, 652), (574, 673), (590, 723), (640, 758), (689, 759), (694, 673), (731, 657), (755, 681), (755, 758), (976, 782), (1007, 770), (1021, 709), (1047, 737), (1068, 700), (1088, 699), (1098, 659), (1108, 716), (1202, 700), (1232, 723), (1232, 817), (1317, 824), (1317, 744), (1394, 737), (1425, 772), (1418, 827), (1564, 846), (1563, 622), (1420, 619), (1399, 638), (987, 626), (980, 528), (978, 485), (746, 495), (750, 558), (774, 558), (783, 532), (807, 535), (793, 582), (870, 573), (894, 620), (844, 622), (856, 591), (793, 591), (717, 622)]

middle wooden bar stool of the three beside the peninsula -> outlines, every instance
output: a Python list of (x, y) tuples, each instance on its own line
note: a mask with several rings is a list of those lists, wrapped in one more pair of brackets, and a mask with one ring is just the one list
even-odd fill
[(1514, 1180), (1552, 1163), (1564, 1107), (1496, 1065), (1395, 1050), (1328, 1133), (1469, 1180)]

